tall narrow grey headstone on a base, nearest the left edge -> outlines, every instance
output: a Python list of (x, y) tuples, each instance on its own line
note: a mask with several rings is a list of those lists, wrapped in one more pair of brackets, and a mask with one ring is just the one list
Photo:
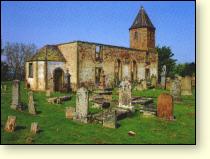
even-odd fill
[(20, 81), (14, 80), (12, 85), (12, 104), (11, 108), (15, 110), (21, 110), (20, 104)]

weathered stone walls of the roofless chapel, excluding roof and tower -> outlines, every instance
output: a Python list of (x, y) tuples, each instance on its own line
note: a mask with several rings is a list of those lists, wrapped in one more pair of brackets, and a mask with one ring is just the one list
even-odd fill
[[(100, 58), (96, 58), (96, 47), (100, 47)], [(72, 42), (58, 45), (66, 62), (48, 61), (48, 80), (53, 71), (60, 67), (64, 73), (71, 74), (71, 87), (76, 90), (81, 83), (95, 86), (96, 69), (100, 68), (105, 74), (107, 87), (112, 87), (116, 79), (119, 81), (128, 77), (129, 80), (145, 79), (145, 69), (149, 69), (150, 77), (157, 77), (158, 54), (154, 49), (142, 51), (137, 49), (103, 45), (89, 42)], [(118, 66), (118, 62), (120, 62)], [(45, 61), (34, 61), (33, 78), (28, 77), (29, 62), (26, 63), (26, 80), (32, 90), (45, 90)], [(134, 65), (135, 64), (135, 65)], [(133, 77), (133, 78), (132, 78)]]

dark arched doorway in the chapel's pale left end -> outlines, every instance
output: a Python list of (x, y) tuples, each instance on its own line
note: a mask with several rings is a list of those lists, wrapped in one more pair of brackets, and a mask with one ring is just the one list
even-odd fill
[(54, 91), (62, 91), (64, 85), (64, 71), (56, 68), (53, 73)]

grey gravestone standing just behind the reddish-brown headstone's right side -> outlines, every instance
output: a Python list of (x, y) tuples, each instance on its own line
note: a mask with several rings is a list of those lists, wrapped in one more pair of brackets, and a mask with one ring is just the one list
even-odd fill
[(178, 77), (175, 77), (175, 79), (171, 82), (170, 93), (173, 96), (174, 101), (181, 100), (181, 83)]

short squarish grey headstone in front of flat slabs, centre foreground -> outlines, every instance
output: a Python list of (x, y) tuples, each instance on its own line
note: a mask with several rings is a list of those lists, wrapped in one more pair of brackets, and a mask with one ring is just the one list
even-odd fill
[(117, 127), (116, 111), (109, 111), (104, 113), (103, 127), (114, 128), (114, 129)]

